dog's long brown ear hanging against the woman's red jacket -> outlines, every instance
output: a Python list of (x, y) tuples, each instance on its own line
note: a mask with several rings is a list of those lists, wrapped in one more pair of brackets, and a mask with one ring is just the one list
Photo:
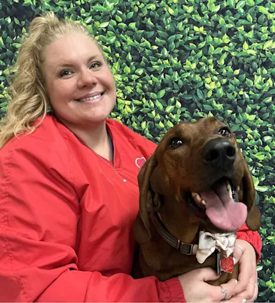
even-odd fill
[(147, 243), (151, 238), (149, 212), (156, 211), (160, 206), (158, 195), (153, 192), (150, 177), (157, 165), (156, 151), (144, 163), (138, 174), (138, 186), (140, 188), (140, 211), (134, 222), (134, 235), (138, 243)]

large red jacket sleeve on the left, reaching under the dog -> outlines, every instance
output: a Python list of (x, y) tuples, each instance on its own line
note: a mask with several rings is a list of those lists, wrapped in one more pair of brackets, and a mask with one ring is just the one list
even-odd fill
[(0, 302), (184, 302), (177, 278), (78, 270), (69, 163), (69, 151), (31, 136), (0, 151)]

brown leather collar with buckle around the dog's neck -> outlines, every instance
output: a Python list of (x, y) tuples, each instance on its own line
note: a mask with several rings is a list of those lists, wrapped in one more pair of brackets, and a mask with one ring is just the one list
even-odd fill
[(153, 226), (156, 228), (158, 234), (160, 234), (161, 238), (163, 238), (166, 243), (178, 249), (181, 254), (187, 254), (188, 256), (196, 254), (198, 245), (183, 243), (181, 240), (173, 236), (167, 230), (165, 224), (163, 224), (163, 221), (160, 219), (160, 215), (158, 214), (158, 212), (152, 212), (151, 219), (153, 222)]

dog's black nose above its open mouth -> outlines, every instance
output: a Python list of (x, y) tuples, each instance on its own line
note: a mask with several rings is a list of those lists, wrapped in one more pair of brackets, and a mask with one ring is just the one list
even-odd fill
[(236, 158), (235, 147), (225, 138), (210, 140), (204, 147), (203, 158), (213, 167), (228, 169)]

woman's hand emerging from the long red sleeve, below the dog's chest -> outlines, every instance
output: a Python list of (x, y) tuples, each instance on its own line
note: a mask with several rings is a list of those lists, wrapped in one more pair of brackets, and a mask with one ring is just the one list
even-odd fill
[(179, 276), (186, 302), (219, 302), (232, 297), (237, 285), (235, 279), (231, 279), (222, 286), (212, 286), (206, 283), (206, 281), (216, 280), (218, 277), (211, 268), (200, 268)]

